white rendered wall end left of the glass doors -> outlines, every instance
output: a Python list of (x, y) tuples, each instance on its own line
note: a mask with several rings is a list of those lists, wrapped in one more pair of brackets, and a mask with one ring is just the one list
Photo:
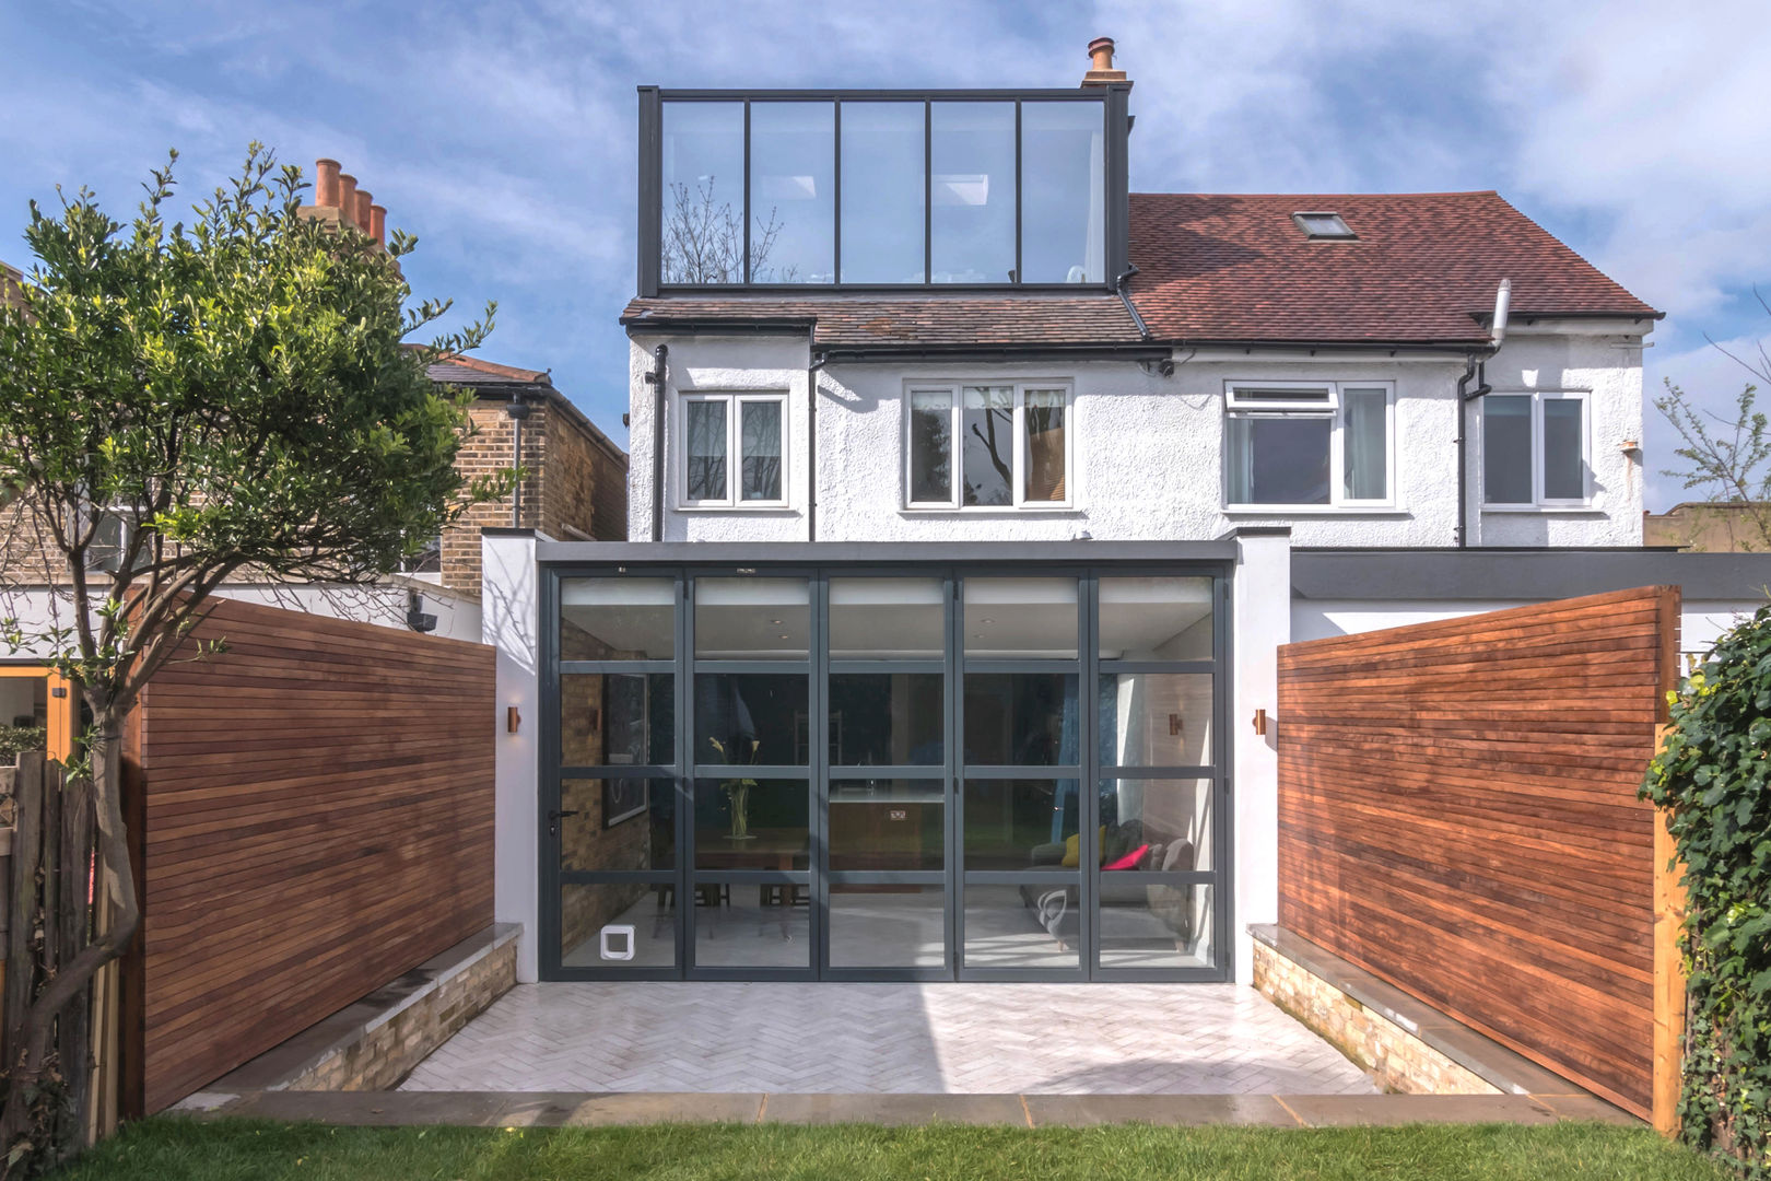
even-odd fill
[[(540, 976), (540, 786), (537, 783), (540, 710), (540, 572), (535, 535), (487, 529), (480, 536), (482, 637), (498, 648), (498, 922), (522, 928), (517, 940), (517, 983)], [(515, 710), (512, 728), (508, 710)]]

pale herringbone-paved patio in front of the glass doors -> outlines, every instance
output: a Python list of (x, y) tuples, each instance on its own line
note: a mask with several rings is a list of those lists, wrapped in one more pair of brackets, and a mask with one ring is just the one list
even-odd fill
[(1376, 1094), (1234, 984), (524, 984), (402, 1091)]

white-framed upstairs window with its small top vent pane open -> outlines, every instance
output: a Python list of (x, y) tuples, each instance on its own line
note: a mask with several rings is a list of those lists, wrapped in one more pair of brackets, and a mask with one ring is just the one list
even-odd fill
[(1277, 512), (1387, 508), (1394, 503), (1394, 382), (1226, 382), (1226, 508)]

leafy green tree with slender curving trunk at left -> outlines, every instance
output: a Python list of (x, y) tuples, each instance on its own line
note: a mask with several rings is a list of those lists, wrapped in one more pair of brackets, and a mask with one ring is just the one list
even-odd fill
[[(253, 143), (227, 188), (166, 225), (172, 168), (156, 170), (131, 227), (92, 193), (58, 216), (30, 205), (35, 266), (0, 310), (0, 487), (18, 554), (41, 556), (48, 620), (5, 621), (80, 685), (90, 726), (69, 790), (90, 793), (108, 931), (32, 1000), (7, 1046), (4, 1151), (28, 1142), (28, 1105), (51, 1069), (57, 1018), (129, 946), (140, 907), (119, 799), (119, 738), (143, 685), (207, 597), (236, 572), (368, 586), (514, 473), (466, 482), (462, 391), (425, 363), (476, 347), (494, 306), (425, 347), (406, 338), (448, 303), (398, 269), (416, 239), (383, 248), (298, 214), (299, 168)], [(78, 1069), (78, 1066), (73, 1066)], [(43, 1146), (32, 1146), (41, 1149)]]

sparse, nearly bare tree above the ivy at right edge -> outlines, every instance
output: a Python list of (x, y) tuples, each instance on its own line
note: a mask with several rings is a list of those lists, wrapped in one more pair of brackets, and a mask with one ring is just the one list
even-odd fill
[[(1753, 289), (1759, 305), (1771, 313), (1759, 289)], [(1746, 549), (1771, 549), (1771, 436), (1766, 432), (1766, 414), (1757, 409), (1757, 382), (1771, 382), (1771, 352), (1764, 342), (1757, 345), (1757, 356), (1739, 358), (1714, 340), (1709, 342), (1730, 361), (1753, 375), (1739, 398), (1732, 420), (1713, 411), (1700, 411), (1691, 405), (1684, 390), (1667, 379), (1667, 393), (1654, 400), (1654, 407), (1674, 425), (1684, 446), (1674, 453), (1686, 460), (1684, 471), (1663, 471), (1661, 475), (1684, 480), (1684, 489), (1702, 489), (1704, 499), (1711, 503), (1709, 513), (1727, 512), (1737, 517)]]

